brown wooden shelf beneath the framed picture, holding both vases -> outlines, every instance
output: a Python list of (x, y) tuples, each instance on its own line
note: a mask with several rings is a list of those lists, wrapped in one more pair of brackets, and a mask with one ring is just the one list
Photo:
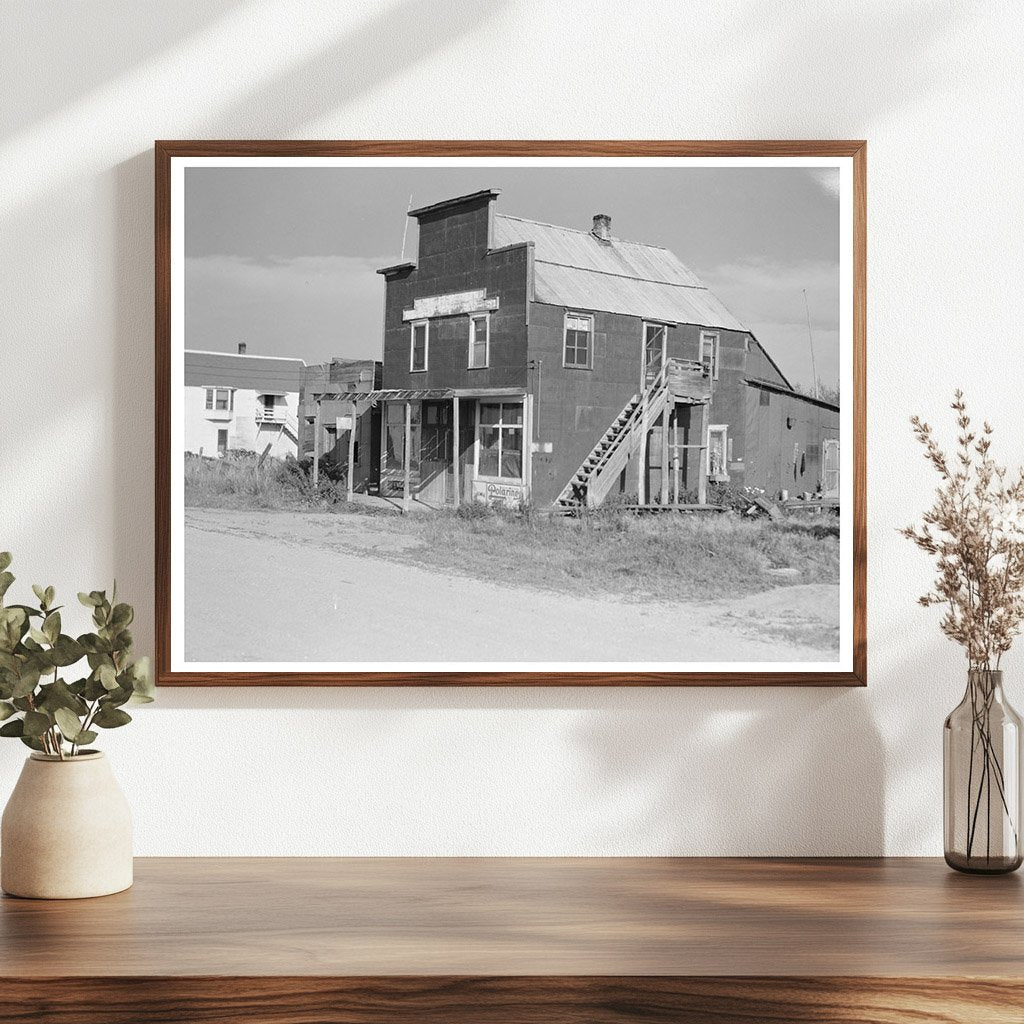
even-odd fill
[(1024, 889), (932, 859), (139, 859), (116, 896), (0, 900), (0, 965), (3, 1021), (1020, 1024)]

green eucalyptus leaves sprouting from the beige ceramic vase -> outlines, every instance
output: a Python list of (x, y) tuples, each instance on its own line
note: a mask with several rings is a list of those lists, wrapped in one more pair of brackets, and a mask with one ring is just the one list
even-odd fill
[[(118, 603), (117, 583), (110, 598), (100, 590), (78, 595), (92, 610), (95, 632), (72, 637), (61, 631), (63, 605), (54, 603), (52, 587), (33, 586), (37, 605), (4, 603), (14, 582), (10, 562), (10, 553), (0, 552), (0, 736), (63, 760), (99, 729), (127, 725), (126, 705), (153, 700), (148, 658), (132, 659), (135, 612)], [(83, 659), (88, 674), (68, 682)]]

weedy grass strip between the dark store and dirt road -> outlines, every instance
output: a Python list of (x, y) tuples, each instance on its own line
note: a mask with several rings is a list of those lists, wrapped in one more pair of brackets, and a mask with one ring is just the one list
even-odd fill
[(732, 513), (636, 515), (613, 505), (581, 518), (482, 504), (400, 516), (345, 501), (344, 487), (294, 460), (247, 453), (185, 462), (185, 505), (374, 515), (376, 528), (419, 542), (378, 557), (513, 587), (636, 600), (713, 600), (775, 587), (839, 583), (839, 524)]

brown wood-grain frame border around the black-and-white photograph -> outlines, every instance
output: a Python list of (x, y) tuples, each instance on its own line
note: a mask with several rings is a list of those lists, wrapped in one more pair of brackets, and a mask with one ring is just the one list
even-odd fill
[[(850, 157), (853, 161), (853, 669), (851, 672), (172, 672), (171, 161), (176, 157)], [(864, 686), (867, 681), (867, 144), (839, 139), (159, 140), (155, 169), (156, 625), (161, 686)], [(844, 441), (844, 443), (846, 443)], [(844, 524), (844, 529), (847, 526)], [(176, 624), (180, 629), (181, 624)]]

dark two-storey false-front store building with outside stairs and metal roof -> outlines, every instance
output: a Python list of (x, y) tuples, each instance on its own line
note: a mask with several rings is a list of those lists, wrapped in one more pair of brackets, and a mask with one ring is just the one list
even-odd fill
[[(703, 502), (709, 480), (838, 494), (839, 409), (797, 393), (668, 249), (497, 211), (412, 210), (386, 283), (379, 486), (429, 504)], [(376, 429), (376, 425), (374, 425)]]

